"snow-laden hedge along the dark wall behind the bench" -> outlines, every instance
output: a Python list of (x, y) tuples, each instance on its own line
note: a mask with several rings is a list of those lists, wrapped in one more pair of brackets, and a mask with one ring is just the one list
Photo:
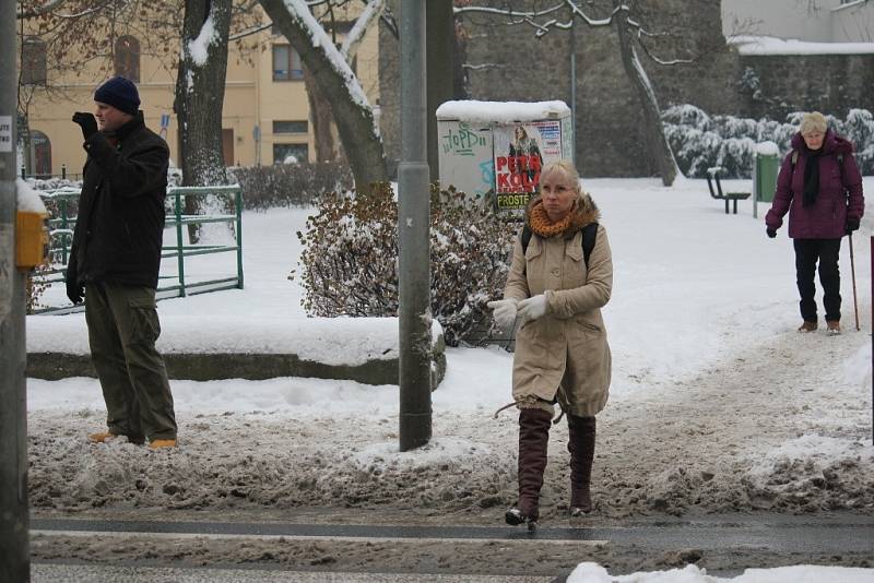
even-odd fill
[[(722, 166), (729, 178), (749, 178), (756, 144), (776, 142), (781, 154), (801, 122), (801, 111), (786, 122), (710, 116), (693, 105), (680, 105), (662, 114), (664, 129), (680, 169), (689, 178), (704, 178), (707, 168)], [(850, 109), (847, 119), (826, 116), (829, 128), (849, 139), (863, 175), (874, 175), (874, 116), (867, 109)]]

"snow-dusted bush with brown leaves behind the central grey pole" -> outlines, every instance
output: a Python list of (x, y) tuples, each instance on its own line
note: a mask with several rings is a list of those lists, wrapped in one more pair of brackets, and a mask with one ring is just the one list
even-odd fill
[[(456, 346), (491, 325), (516, 226), (454, 191), (430, 193), (430, 307)], [(390, 185), (322, 197), (305, 233), (300, 278), (310, 316), (398, 314), (398, 204)], [(479, 338), (477, 338), (479, 340)]]

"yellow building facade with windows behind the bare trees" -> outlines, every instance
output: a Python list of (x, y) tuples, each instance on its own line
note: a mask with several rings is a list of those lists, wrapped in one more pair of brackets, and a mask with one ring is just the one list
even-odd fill
[[(377, 36), (378, 29), (373, 26), (355, 58), (359, 82), (371, 105), (378, 104), (379, 91)], [(290, 156), (316, 162), (315, 135), (299, 56), (285, 37), (273, 34), (270, 28), (247, 40), (250, 47), (255, 45), (253, 50), (244, 55), (233, 41), (228, 50), (222, 115), (225, 164), (270, 165), (287, 160)], [(135, 82), (146, 126), (165, 138), (170, 146), (172, 160), (178, 158), (178, 130), (173, 112), (176, 71), (168, 70), (157, 58), (140, 53), (139, 46), (134, 36), (119, 37), (114, 71), (108, 74), (95, 67), (93, 73), (84, 71), (51, 79), (51, 73), (46, 75), (43, 70), (43, 83), (49, 83), (55, 91), (49, 98), (48, 92), (34, 87), (36, 91), (27, 108), (31, 147), (24, 155), (28, 158), (28, 175), (60, 176), (67, 172), (78, 177), (81, 174), (85, 151), (79, 127), (71, 118), (74, 111), (94, 110), (94, 90), (114, 73)], [(23, 67), (33, 67), (33, 63), (23, 63)], [(40, 81), (38, 72), (33, 81)]]

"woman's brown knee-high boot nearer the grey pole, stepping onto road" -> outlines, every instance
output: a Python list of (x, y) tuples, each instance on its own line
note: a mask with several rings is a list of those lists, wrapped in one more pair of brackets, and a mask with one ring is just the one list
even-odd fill
[(508, 524), (527, 522), (531, 526), (538, 520), (552, 418), (552, 414), (543, 409), (519, 412), (519, 505), (505, 514)]

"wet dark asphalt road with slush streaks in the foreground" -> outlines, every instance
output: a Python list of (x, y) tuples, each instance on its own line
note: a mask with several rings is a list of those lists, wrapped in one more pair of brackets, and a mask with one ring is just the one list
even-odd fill
[[(581, 527), (541, 527), (534, 533), (522, 528), (497, 526), (409, 526), (409, 525), (367, 525), (367, 524), (302, 524), (285, 522), (161, 522), (161, 521), (107, 521), (83, 519), (32, 519), (32, 536), (118, 538), (119, 544), (132, 537), (146, 537), (155, 540), (182, 542), (186, 539), (212, 540), (261, 540), (261, 542), (343, 542), (346, 544), (401, 544), (424, 543), (438, 545), (452, 542), (464, 546), (509, 544), (525, 552), (527, 549), (599, 548), (614, 549), (622, 557), (623, 549), (635, 549), (638, 555), (696, 552), (711, 557), (733, 556), (722, 560), (721, 568), (711, 574), (728, 576), (743, 571), (749, 566), (761, 566), (760, 557), (769, 559), (765, 564), (798, 564), (817, 562), (806, 558), (840, 557), (854, 564), (865, 566), (874, 561), (874, 517), (840, 515), (820, 516), (706, 516), (699, 520), (637, 520), (621, 525)], [(529, 540), (530, 544), (525, 544)], [(759, 557), (755, 564), (744, 564), (745, 557)], [(751, 559), (752, 560), (752, 559)], [(487, 561), (486, 561), (487, 562)], [(568, 570), (556, 569), (554, 574), (538, 576), (511, 576), (506, 573), (489, 572), (483, 564), (456, 567), (453, 573), (399, 572), (386, 564), (386, 572), (356, 572), (342, 566), (336, 569), (307, 569), (290, 566), (226, 564), (216, 569), (214, 564), (180, 564), (173, 560), (126, 561), (122, 564), (87, 564), (76, 559), (36, 560), (33, 564), (34, 582), (56, 583), (66, 581), (88, 582), (206, 582), (231, 581), (275, 582), (299, 581), (347, 581), (392, 583), (412, 581), (434, 581), (437, 583), (546, 583), (564, 581)], [(694, 560), (692, 561), (694, 562)], [(616, 564), (621, 564), (617, 561)], [(845, 562), (846, 564), (846, 562)], [(871, 564), (867, 564), (871, 567)], [(662, 567), (664, 568), (664, 567)], [(652, 566), (646, 570), (657, 570)]]

